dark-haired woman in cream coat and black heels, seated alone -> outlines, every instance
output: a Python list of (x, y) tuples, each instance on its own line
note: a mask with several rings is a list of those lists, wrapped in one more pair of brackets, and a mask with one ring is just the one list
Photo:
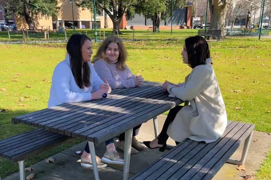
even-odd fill
[(201, 36), (185, 39), (181, 55), (183, 63), (192, 68), (191, 73), (183, 83), (177, 85), (166, 80), (162, 86), (169, 97), (189, 101), (189, 105), (171, 109), (159, 136), (143, 141), (148, 148), (159, 148), (161, 152), (169, 137), (176, 144), (185, 138), (210, 143), (216, 141), (227, 126), (225, 105), (206, 40)]

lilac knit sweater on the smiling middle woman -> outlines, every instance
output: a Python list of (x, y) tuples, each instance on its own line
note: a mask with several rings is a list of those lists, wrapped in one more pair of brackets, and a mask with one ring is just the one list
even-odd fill
[(135, 75), (128, 66), (125, 70), (120, 70), (117, 63), (108, 64), (102, 59), (95, 61), (93, 66), (101, 80), (106, 78), (112, 89), (135, 87)]

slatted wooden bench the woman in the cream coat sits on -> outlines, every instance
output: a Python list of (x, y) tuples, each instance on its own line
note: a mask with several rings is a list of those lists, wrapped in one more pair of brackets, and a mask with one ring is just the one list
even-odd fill
[[(130, 180), (210, 180), (226, 162), (244, 165), (254, 127), (228, 121), (224, 134), (215, 142), (185, 139)], [(230, 159), (242, 142), (241, 160)]]

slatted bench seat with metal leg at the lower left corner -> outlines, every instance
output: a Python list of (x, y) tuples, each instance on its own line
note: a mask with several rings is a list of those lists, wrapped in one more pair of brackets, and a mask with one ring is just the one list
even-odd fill
[(55, 147), (71, 137), (46, 131), (31, 130), (0, 141), (0, 157), (19, 163), (20, 180), (25, 179), (25, 158)]

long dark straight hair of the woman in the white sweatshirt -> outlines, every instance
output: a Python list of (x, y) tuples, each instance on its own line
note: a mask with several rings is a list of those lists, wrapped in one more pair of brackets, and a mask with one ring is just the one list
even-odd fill
[(73, 34), (69, 38), (66, 46), (66, 50), (69, 54), (70, 59), (71, 71), (74, 76), (75, 82), (80, 89), (91, 86), (90, 67), (88, 62), (83, 63), (82, 57), (82, 46), (86, 40), (90, 39), (85, 34)]

